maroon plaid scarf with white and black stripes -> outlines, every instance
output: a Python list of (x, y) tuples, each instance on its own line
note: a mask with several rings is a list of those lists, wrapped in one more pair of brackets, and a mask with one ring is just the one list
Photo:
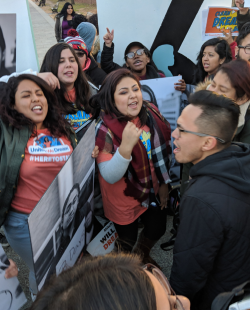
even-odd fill
[[(151, 133), (151, 152), (156, 176), (160, 184), (167, 184), (171, 182), (168, 175), (171, 158), (170, 125), (154, 105), (144, 101), (144, 107), (148, 116), (146, 125)], [(102, 110), (96, 122), (96, 145), (100, 151), (114, 154), (121, 144), (125, 126), (126, 122), (120, 122)], [(133, 148), (132, 161), (125, 174), (125, 182), (126, 196), (134, 197), (145, 207), (155, 201), (147, 151), (140, 139)]]

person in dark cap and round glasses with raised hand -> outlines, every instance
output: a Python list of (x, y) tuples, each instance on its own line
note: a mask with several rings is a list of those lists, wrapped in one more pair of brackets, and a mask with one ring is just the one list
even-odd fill
[[(107, 28), (107, 33), (103, 37), (104, 45), (101, 56), (101, 67), (108, 74), (114, 70), (121, 68), (117, 63), (113, 62), (114, 55), (114, 30)], [(165, 77), (159, 72), (155, 64), (151, 60), (149, 50), (140, 42), (130, 43), (124, 52), (125, 64), (123, 67), (130, 69), (140, 80), (149, 80)]]

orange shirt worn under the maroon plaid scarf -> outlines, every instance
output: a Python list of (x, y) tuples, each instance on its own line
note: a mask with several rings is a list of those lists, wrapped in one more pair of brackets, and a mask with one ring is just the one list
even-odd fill
[[(150, 131), (148, 126), (142, 127), (143, 133), (141, 141), (145, 146), (148, 158), (151, 157)], [(118, 151), (119, 152), (119, 151)], [(112, 154), (100, 152), (97, 157), (97, 163), (105, 162), (112, 159)], [(133, 155), (132, 155), (133, 156)], [(159, 191), (159, 184), (155, 174), (152, 159), (149, 159), (151, 177), (155, 194)], [(136, 199), (124, 195), (127, 187), (125, 178), (122, 178), (114, 184), (109, 184), (99, 173), (99, 181), (102, 192), (103, 209), (105, 216), (112, 222), (119, 225), (127, 225), (133, 223), (147, 208), (143, 207)]]

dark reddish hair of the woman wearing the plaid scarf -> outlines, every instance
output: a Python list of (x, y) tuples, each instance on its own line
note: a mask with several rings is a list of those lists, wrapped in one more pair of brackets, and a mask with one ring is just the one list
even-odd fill
[[(135, 80), (141, 89), (139, 79), (130, 70), (122, 68), (111, 72), (105, 78), (99, 92), (96, 95), (92, 96), (89, 101), (90, 106), (95, 111), (93, 118), (98, 117), (100, 110), (102, 109), (104, 110), (105, 114), (108, 114), (113, 118), (119, 119), (120, 122), (130, 120), (128, 116), (125, 116), (117, 109), (114, 99), (114, 93), (117, 85), (123, 78), (126, 77), (130, 77)], [(141, 111), (138, 116), (141, 126), (145, 125), (147, 121), (147, 111), (144, 105), (142, 105)]]

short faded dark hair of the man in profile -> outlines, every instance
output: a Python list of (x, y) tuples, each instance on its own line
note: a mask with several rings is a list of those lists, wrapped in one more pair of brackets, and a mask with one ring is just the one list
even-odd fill
[[(202, 113), (196, 119), (201, 133), (211, 134), (231, 143), (238, 126), (240, 108), (230, 98), (208, 90), (201, 90), (189, 96), (190, 104), (201, 108)], [(217, 141), (218, 146), (220, 142)]]

